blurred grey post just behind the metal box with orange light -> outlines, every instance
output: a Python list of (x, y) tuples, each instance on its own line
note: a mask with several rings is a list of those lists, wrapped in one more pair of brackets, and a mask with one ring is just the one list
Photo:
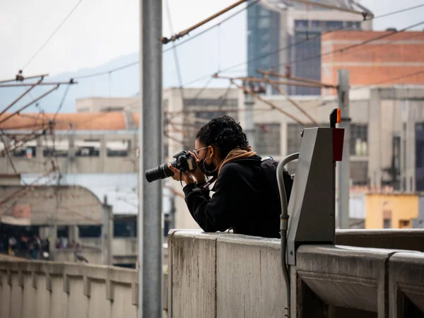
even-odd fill
[(351, 157), (351, 118), (349, 117), (349, 71), (338, 70), (338, 108), (341, 110), (340, 128), (344, 128), (343, 160), (338, 164), (338, 222), (349, 228), (349, 185)]

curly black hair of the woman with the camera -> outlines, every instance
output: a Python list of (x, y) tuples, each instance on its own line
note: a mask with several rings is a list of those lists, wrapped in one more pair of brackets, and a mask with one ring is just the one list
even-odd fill
[(240, 123), (227, 115), (211, 119), (208, 124), (199, 129), (196, 139), (206, 146), (216, 146), (222, 158), (225, 158), (234, 148), (246, 150), (249, 147), (249, 141)]

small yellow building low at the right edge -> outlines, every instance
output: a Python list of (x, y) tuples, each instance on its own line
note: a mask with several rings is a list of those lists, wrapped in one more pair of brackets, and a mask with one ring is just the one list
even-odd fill
[(418, 218), (418, 194), (367, 194), (365, 228), (412, 228)]

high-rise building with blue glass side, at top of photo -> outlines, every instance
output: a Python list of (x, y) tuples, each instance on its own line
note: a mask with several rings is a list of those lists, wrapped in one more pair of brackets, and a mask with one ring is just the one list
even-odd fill
[[(340, 8), (367, 12), (353, 0), (316, 0)], [(321, 80), (321, 34), (330, 30), (371, 30), (371, 20), (355, 13), (305, 6), (290, 0), (264, 0), (247, 8), (248, 76), (273, 69)], [(321, 95), (319, 88), (287, 87), (290, 95)]]

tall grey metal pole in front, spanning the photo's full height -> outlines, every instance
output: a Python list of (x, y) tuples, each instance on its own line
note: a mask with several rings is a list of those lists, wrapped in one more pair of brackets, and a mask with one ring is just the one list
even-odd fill
[(144, 171), (163, 163), (162, 1), (140, 0), (139, 318), (162, 317), (162, 182)]

